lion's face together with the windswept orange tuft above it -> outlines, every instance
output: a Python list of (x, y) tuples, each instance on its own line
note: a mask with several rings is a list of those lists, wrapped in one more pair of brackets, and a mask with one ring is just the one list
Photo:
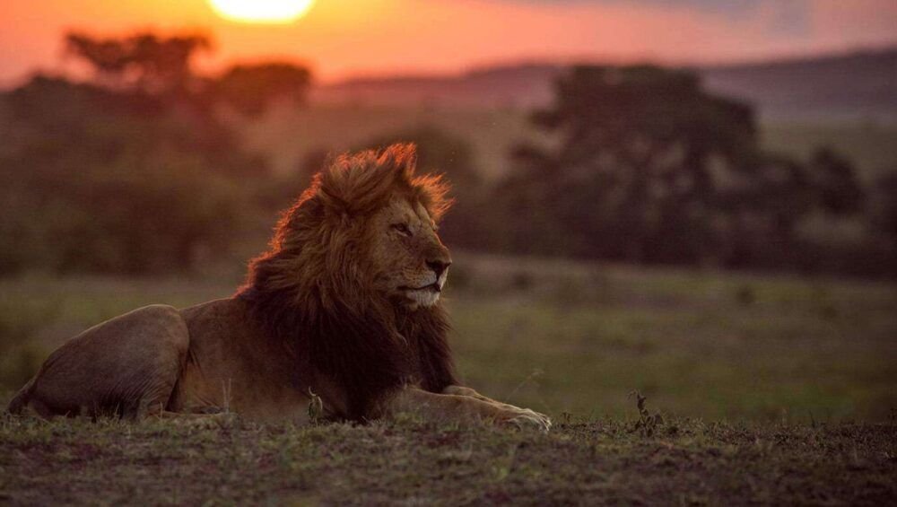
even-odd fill
[(412, 310), (439, 301), (451, 265), (437, 233), (446, 187), (438, 178), (415, 178), (415, 158), (411, 144), (344, 155), (316, 184), (331, 213), (360, 223), (361, 279)]

